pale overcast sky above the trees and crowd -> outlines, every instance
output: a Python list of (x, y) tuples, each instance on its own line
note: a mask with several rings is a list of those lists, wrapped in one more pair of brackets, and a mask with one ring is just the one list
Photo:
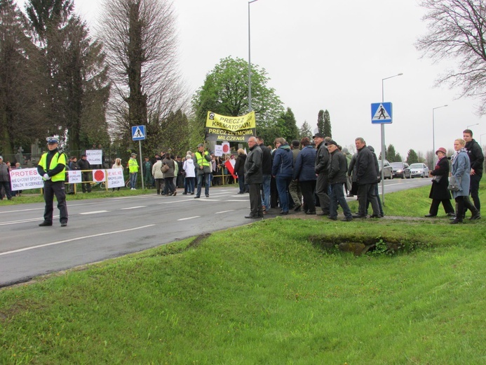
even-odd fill
[[(19, 4), (25, 3), (19, 1)], [(101, 0), (74, 0), (76, 12), (93, 28)], [(229, 55), (248, 60), (247, 0), (174, 0), (180, 40), (180, 67), (191, 93), (205, 75)], [(452, 149), (455, 138), (472, 124), (480, 142), (485, 117), (475, 100), (459, 99), (460, 90), (434, 88), (438, 74), (454, 65), (421, 59), (414, 43), (425, 34), (424, 11), (415, 0), (258, 0), (250, 4), (251, 60), (269, 74), (283, 104), (302, 126), (316, 128), (319, 110), (328, 110), (332, 138), (340, 145), (363, 137), (380, 150), (380, 127), (371, 124), (370, 104), (393, 103), (393, 124), (385, 143), (402, 157), (411, 148), (432, 150), (432, 110), (436, 149)], [(267, 141), (270, 142), (270, 141)], [(486, 145), (486, 134), (482, 136)]]

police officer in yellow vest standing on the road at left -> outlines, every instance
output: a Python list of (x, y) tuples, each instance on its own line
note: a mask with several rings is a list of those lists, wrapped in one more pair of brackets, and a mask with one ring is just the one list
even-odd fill
[(44, 209), (44, 221), (39, 227), (53, 225), (53, 201), (58, 200), (59, 220), (61, 227), (67, 226), (67, 205), (64, 182), (66, 178), (66, 155), (59, 152), (59, 138), (48, 137), (47, 147), (49, 152), (41, 156), (41, 161), (37, 165), (37, 172), (44, 180), (44, 200), (46, 208)]

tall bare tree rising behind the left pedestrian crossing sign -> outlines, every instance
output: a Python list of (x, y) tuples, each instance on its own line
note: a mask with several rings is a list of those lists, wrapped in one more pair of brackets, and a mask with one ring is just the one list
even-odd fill
[(130, 126), (149, 124), (158, 131), (150, 124), (160, 124), (184, 103), (175, 13), (168, 0), (104, 0), (104, 8), (98, 33), (114, 88), (112, 126), (130, 140)]

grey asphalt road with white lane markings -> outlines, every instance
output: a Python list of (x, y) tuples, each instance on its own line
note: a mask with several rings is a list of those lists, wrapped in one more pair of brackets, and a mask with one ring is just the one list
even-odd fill
[[(386, 180), (385, 193), (430, 183)], [(248, 194), (237, 194), (237, 187), (212, 187), (201, 199), (180, 192), (68, 201), (67, 227), (60, 227), (57, 208), (54, 225), (39, 227), (43, 204), (0, 205), (0, 287), (250, 223)]]

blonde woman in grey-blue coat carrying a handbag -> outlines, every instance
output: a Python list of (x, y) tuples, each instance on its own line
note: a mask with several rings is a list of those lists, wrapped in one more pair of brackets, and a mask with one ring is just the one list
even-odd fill
[(452, 156), (452, 172), (449, 186), (447, 187), (452, 191), (452, 197), (454, 197), (457, 204), (456, 218), (451, 222), (453, 225), (462, 223), (464, 219), (464, 206), (473, 213), (470, 218), (471, 220), (481, 218), (478, 209), (469, 200), (471, 162), (469, 161), (468, 153), (464, 145), (466, 145), (466, 142), (463, 139), (458, 138), (454, 140), (454, 150), (456, 153)]

